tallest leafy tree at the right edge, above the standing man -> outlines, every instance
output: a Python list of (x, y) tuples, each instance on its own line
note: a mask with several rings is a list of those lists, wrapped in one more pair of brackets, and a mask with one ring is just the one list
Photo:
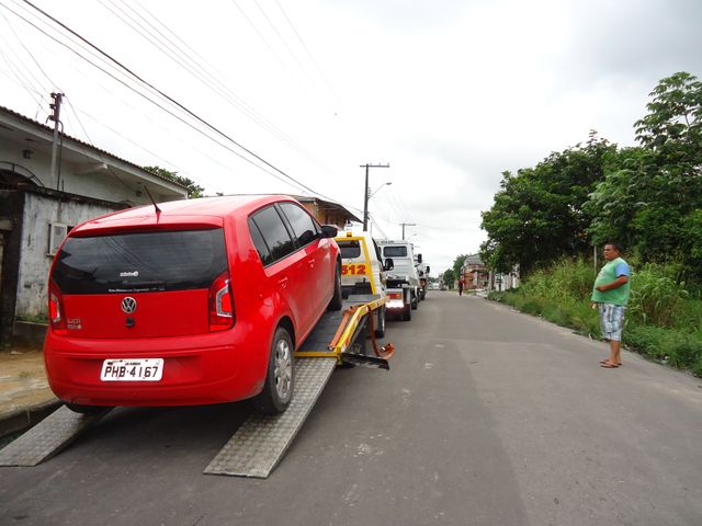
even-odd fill
[(624, 241), (643, 261), (675, 261), (702, 277), (702, 82), (679, 72), (650, 92), (622, 150), (586, 206), (593, 240)]

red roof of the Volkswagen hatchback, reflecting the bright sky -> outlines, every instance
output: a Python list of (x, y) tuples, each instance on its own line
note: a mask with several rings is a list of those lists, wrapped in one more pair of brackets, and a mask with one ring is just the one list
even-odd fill
[(220, 225), (226, 216), (248, 216), (250, 213), (271, 203), (295, 202), (287, 195), (225, 195), (199, 197), (195, 199), (169, 201), (159, 203), (157, 211), (154, 205), (144, 205), (127, 210), (97, 217), (71, 230), (71, 233), (103, 229), (148, 227), (151, 225), (210, 224)]

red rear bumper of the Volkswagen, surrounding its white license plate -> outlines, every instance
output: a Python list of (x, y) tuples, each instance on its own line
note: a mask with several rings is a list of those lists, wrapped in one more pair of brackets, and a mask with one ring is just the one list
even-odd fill
[[(49, 386), (81, 405), (197, 405), (258, 395), (269, 343), (246, 347), (230, 331), (178, 339), (79, 340), (50, 333), (44, 359)], [(105, 359), (162, 358), (158, 381), (102, 381)]]

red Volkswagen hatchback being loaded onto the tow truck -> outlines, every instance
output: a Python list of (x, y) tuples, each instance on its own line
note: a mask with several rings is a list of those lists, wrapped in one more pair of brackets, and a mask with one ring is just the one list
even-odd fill
[(286, 196), (120, 211), (73, 228), (49, 276), (49, 385), (78, 412), (253, 398), (285, 410), (293, 352), (341, 308), (335, 227)]

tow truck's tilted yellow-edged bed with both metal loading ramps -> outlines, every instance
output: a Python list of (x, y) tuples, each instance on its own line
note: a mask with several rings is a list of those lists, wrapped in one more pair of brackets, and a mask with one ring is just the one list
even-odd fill
[[(373, 290), (371, 290), (373, 293)], [(338, 365), (389, 370), (392, 343), (375, 340), (377, 310), (388, 298), (349, 294), (340, 311), (327, 311), (295, 352), (296, 381), (284, 413), (253, 412), (204, 469), (206, 474), (267, 478), (283, 458)], [(61, 405), (14, 442), (0, 449), (0, 466), (37, 466), (99, 423), (111, 408), (79, 414)]]

